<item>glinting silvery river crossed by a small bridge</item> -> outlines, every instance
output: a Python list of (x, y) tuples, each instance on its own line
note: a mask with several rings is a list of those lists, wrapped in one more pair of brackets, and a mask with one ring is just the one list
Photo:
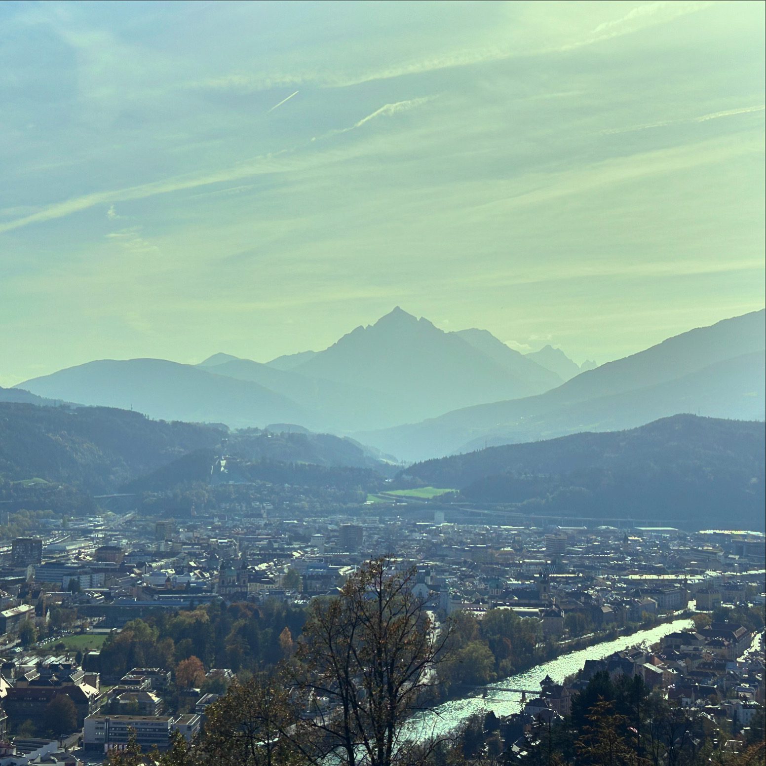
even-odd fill
[[(555, 683), (561, 683), (567, 676), (577, 673), (584, 666), (585, 660), (603, 660), (614, 652), (619, 652), (639, 643), (647, 645), (656, 643), (668, 633), (692, 627), (692, 620), (687, 618), (663, 623), (648, 630), (639, 630), (630, 636), (623, 636), (611, 641), (596, 643), (587, 649), (580, 649), (568, 654), (562, 654), (555, 660), (535, 665), (524, 673), (509, 676), (502, 681), (489, 684), (486, 687), (486, 697), (481, 693), (453, 699), (444, 702), (433, 712), (421, 715), (411, 722), (413, 738), (425, 739), (430, 736), (442, 736), (452, 731), (460, 722), (476, 712), (493, 710), (496, 715), (510, 715), (522, 709), (521, 695), (516, 692), (506, 692), (498, 687), (506, 686), (512, 689), (539, 690), (540, 682), (545, 676), (551, 676)], [(527, 699), (530, 695), (527, 696)]]

